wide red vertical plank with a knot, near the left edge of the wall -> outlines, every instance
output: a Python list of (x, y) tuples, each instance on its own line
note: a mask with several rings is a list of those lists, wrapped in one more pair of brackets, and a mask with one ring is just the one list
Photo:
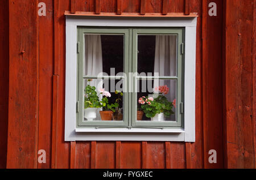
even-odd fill
[(7, 168), (37, 168), (38, 1), (10, 0), (9, 15)]

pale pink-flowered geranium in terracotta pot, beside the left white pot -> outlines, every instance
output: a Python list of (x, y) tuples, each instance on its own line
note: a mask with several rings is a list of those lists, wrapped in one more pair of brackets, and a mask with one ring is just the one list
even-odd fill
[(110, 121), (113, 119), (113, 112), (115, 112), (115, 107), (118, 104), (109, 104), (108, 97), (111, 97), (111, 94), (105, 89), (100, 89), (100, 93), (102, 94), (101, 107), (102, 110), (100, 111), (101, 120), (103, 121)]

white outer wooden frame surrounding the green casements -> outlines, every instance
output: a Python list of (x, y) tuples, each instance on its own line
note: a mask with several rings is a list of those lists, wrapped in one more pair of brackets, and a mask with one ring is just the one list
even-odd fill
[[(66, 16), (65, 141), (195, 142), (196, 17)], [(76, 128), (77, 27), (184, 27), (183, 128)]]

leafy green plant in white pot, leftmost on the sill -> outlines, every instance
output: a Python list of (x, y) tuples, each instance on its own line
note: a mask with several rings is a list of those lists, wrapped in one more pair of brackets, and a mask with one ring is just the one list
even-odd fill
[[(87, 80), (87, 82), (91, 81), (92, 79)], [(87, 121), (93, 121), (96, 118), (98, 108), (101, 108), (101, 103), (97, 96), (96, 88), (88, 84), (84, 95), (84, 117)]]

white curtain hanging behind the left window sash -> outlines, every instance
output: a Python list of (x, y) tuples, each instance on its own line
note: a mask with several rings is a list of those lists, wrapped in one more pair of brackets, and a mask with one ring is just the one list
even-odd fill
[[(102, 73), (102, 49), (101, 49), (101, 35), (85, 35), (85, 55), (84, 55), (84, 75), (98, 76)], [(93, 79), (90, 82), (91, 86), (96, 87), (97, 94), (102, 88), (102, 80)], [(102, 95), (100, 96), (100, 100)], [(97, 120), (100, 118), (100, 109), (97, 112)]]

